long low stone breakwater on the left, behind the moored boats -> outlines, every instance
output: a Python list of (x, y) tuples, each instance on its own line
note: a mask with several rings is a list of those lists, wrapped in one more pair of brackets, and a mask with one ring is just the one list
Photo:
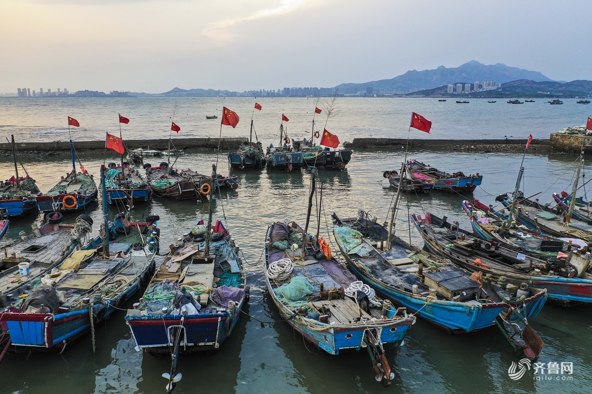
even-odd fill
[[(248, 140), (247, 137), (225, 137), (220, 140), (221, 149), (236, 149), (240, 144)], [(178, 150), (191, 150), (200, 148), (216, 149), (218, 148), (218, 138), (173, 138), (175, 148)], [(168, 139), (159, 140), (124, 140), (126, 146), (130, 149), (143, 148), (167, 150), (169, 147)], [(53, 156), (70, 154), (69, 141), (53, 142), (18, 142), (18, 153), (21, 156)], [(105, 149), (105, 141), (74, 141), (74, 147), (78, 153), (97, 153)], [(171, 145), (171, 148), (173, 146)], [(12, 145), (9, 143), (0, 144), (0, 154), (3, 156), (12, 156)]]

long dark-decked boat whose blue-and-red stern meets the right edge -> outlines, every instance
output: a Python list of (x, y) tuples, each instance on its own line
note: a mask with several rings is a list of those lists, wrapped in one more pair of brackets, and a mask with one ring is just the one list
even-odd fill
[[(438, 218), (426, 212), (425, 218), (412, 215), (426, 248), (437, 256), (450, 259), (470, 272), (481, 272), (483, 278), (512, 295), (519, 288), (540, 288), (549, 300), (564, 306), (592, 302), (592, 269), (588, 248), (568, 251), (568, 255), (548, 261), (526, 256), (495, 238), (481, 240), (459, 228), (456, 221)], [(529, 290), (530, 291), (530, 290)]]

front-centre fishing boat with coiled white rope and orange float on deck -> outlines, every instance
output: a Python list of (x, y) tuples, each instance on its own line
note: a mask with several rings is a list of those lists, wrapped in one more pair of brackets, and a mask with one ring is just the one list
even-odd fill
[(386, 387), (394, 373), (384, 344), (401, 345), (415, 317), (378, 298), (331, 256), (319, 238), (320, 217), (317, 235), (308, 234), (316, 174), (312, 169), (305, 227), (294, 221), (268, 227), (263, 250), (267, 289), (282, 319), (321, 351), (367, 348), (376, 379)]

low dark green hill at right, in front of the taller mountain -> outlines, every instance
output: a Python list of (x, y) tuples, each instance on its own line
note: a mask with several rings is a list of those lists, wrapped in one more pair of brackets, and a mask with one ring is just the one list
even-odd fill
[[(469, 83), (457, 81), (458, 83)], [(407, 96), (422, 97), (474, 97), (474, 98), (504, 98), (504, 97), (550, 97), (562, 96), (565, 98), (592, 95), (592, 81), (572, 80), (571, 82), (544, 81), (535, 82), (529, 79), (518, 79), (502, 83), (500, 89), (494, 91), (471, 92), (462, 95), (450, 95), (448, 84), (433, 89), (426, 89), (409, 93)]]

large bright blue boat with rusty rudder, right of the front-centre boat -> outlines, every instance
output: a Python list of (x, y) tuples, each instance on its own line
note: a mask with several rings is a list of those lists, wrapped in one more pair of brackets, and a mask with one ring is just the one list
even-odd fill
[[(546, 301), (545, 290), (527, 287), (519, 296), (496, 283), (484, 282), (449, 261), (424, 253), (378, 224), (368, 213), (340, 219), (333, 212), (334, 236), (348, 267), (396, 305), (405, 306), (430, 324), (448, 332), (462, 333), (497, 325), (512, 337), (516, 356), (536, 359), (538, 341), (520, 343), (530, 332), (527, 318), (535, 317)], [(522, 296), (524, 295), (524, 296)], [(510, 327), (520, 325), (513, 338)], [(525, 346), (526, 345), (526, 346)]]

